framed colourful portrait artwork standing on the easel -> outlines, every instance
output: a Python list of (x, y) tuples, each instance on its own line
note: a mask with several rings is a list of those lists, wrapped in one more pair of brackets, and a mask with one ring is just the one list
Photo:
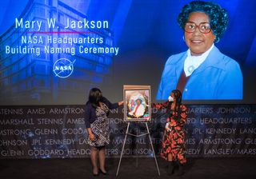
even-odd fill
[(150, 121), (150, 86), (123, 86), (124, 120)]

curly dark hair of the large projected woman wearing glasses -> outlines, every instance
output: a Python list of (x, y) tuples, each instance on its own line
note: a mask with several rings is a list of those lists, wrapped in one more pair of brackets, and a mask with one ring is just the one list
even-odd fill
[(214, 2), (194, 1), (183, 6), (181, 13), (178, 15), (178, 25), (184, 29), (184, 26), (193, 12), (203, 12), (210, 18), (210, 27), (216, 36), (215, 42), (219, 41), (226, 30), (229, 22), (227, 11)]

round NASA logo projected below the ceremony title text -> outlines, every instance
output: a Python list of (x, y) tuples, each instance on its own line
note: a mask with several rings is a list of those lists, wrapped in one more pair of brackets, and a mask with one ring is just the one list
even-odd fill
[(75, 60), (71, 62), (69, 59), (60, 58), (54, 62), (54, 74), (58, 78), (68, 78), (74, 70)]

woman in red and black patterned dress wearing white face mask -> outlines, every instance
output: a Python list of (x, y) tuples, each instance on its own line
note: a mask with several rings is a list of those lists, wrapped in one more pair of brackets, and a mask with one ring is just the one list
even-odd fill
[(161, 157), (168, 161), (168, 174), (174, 173), (174, 166), (178, 165), (178, 175), (182, 175), (185, 158), (185, 133), (183, 125), (186, 122), (187, 109), (182, 105), (182, 93), (173, 90), (168, 101), (162, 104), (154, 104), (155, 108), (166, 108), (168, 117), (162, 141)]

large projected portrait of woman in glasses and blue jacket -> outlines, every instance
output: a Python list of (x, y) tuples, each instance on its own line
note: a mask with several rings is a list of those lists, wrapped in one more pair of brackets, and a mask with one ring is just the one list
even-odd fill
[(178, 25), (188, 50), (168, 58), (158, 87), (158, 100), (178, 89), (184, 100), (241, 100), (242, 71), (238, 62), (222, 54), (218, 42), (229, 18), (214, 2), (194, 1), (183, 6)]

